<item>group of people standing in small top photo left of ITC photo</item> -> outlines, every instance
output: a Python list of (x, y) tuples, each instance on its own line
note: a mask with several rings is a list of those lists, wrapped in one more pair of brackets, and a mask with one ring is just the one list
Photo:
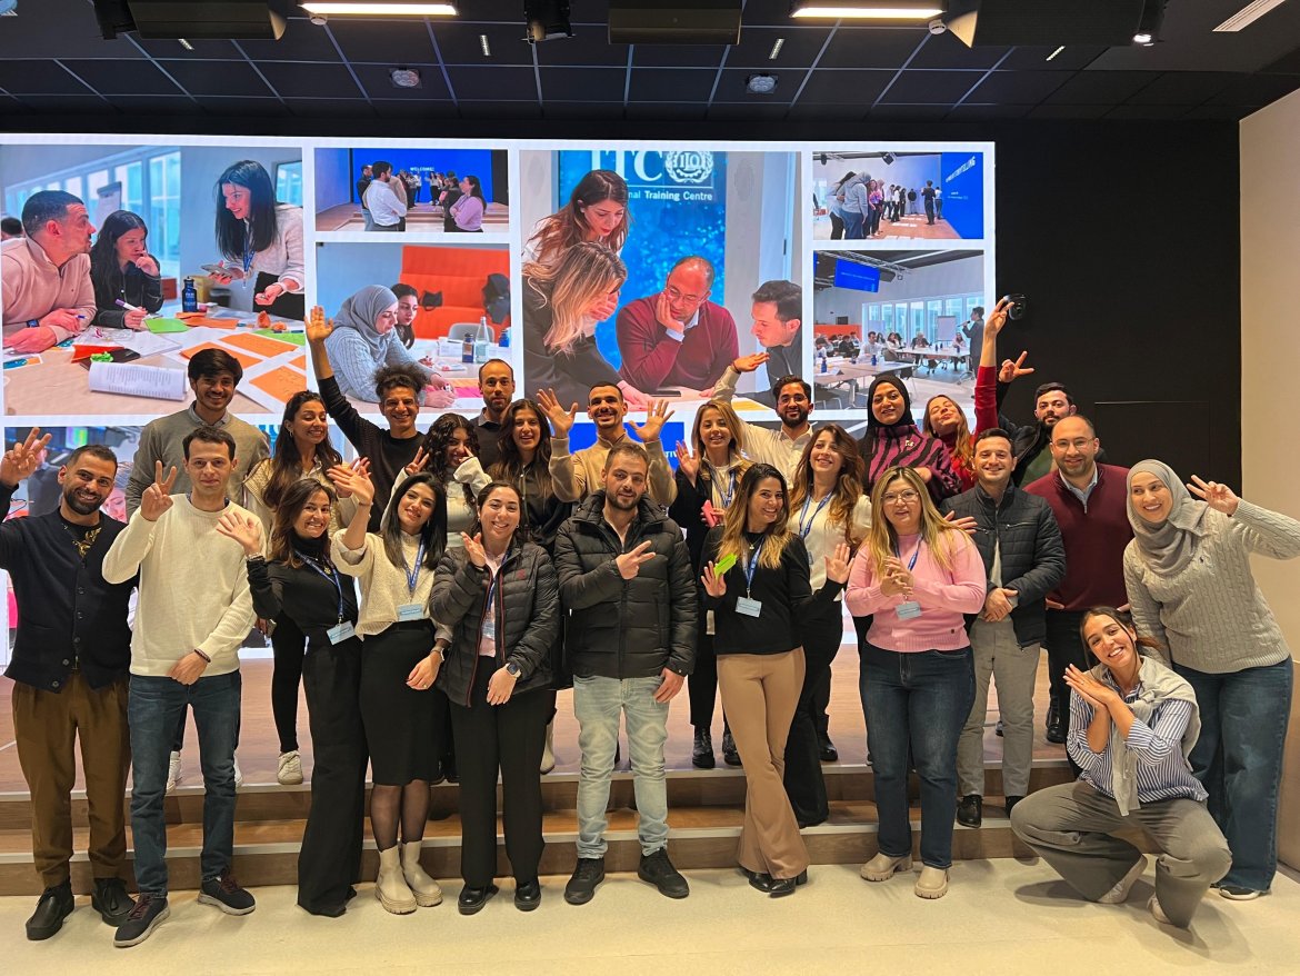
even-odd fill
[[(356, 181), (365, 229), (390, 233), (406, 230), (407, 215), (420, 203), (422, 186), (419, 173), (406, 169), (394, 173), (393, 164), (385, 160), (367, 163)], [(442, 207), (445, 233), (482, 233), (488, 200), (484, 199), (482, 181), (477, 176), (467, 174), (458, 180), (454, 172), (446, 176), (432, 173), (429, 204)]]

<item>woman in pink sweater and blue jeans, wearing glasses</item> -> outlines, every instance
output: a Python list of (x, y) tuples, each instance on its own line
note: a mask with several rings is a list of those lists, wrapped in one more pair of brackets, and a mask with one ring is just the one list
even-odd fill
[(957, 739), (975, 698), (965, 614), (984, 606), (975, 544), (935, 509), (910, 467), (871, 492), (871, 534), (858, 549), (845, 603), (872, 614), (862, 649), (862, 712), (876, 783), (880, 850), (867, 881), (911, 871), (907, 753), (920, 776), (920, 898), (948, 893), (957, 813)]

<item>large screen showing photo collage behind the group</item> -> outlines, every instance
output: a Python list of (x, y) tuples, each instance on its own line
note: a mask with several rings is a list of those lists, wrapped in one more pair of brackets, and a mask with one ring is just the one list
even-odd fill
[[(44, 190), (86, 213), (36, 243), (21, 217)], [(58, 468), (87, 442), (117, 452), (105, 510), (125, 518), (140, 429), (192, 401), (203, 349), (240, 363), (230, 410), (274, 440), (316, 385), (316, 306), (341, 386), (381, 426), (378, 366), (420, 363), (422, 431), (477, 415), (478, 366), (499, 358), (516, 397), (577, 403), (575, 450), (594, 440), (592, 384), (618, 383), (629, 422), (667, 401), (675, 461), (724, 370), (755, 353), (733, 401), (750, 423), (779, 423), (770, 386), (789, 373), (812, 385), (814, 422), (855, 435), (881, 372), (904, 377), (918, 423), (935, 396), (972, 414), (972, 316), (997, 299), (992, 143), (25, 135), (0, 146), (0, 197), (5, 448), (53, 435), (8, 518), (57, 506)]]

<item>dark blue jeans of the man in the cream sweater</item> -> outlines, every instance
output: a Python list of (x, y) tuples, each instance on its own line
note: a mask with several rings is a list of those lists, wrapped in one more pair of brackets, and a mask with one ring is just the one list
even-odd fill
[(131, 675), (131, 834), (140, 894), (166, 897), (166, 824), (162, 798), (172, 737), (186, 707), (194, 709), (203, 768), (203, 880), (229, 871), (235, 846), (235, 743), (239, 742), (239, 671), (181, 685)]

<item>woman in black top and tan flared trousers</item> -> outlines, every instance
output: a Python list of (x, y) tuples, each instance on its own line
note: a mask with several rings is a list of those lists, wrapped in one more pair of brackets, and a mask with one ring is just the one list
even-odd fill
[(781, 785), (803, 686), (800, 634), (849, 578), (849, 547), (840, 544), (826, 557), (826, 584), (812, 593), (807, 549), (789, 515), (785, 478), (771, 465), (754, 465), (723, 524), (708, 532), (702, 557), (705, 606), (718, 621), (718, 683), (745, 764), (740, 867), (774, 898), (794, 894), (807, 880), (807, 848)]

